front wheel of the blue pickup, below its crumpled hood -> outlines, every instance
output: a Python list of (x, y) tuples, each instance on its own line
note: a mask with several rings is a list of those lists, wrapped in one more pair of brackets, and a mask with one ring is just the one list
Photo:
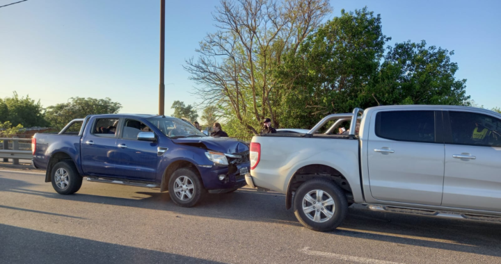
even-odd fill
[[(186, 188), (186, 190), (183, 189), (182, 191), (176, 193), (175, 192), (175, 187), (177, 186), (176, 180), (180, 179), (180, 181), (183, 182), (184, 177), (188, 179), (186, 181), (187, 183), (186, 185), (193, 185), (193, 189)], [(193, 172), (193, 170), (188, 167), (176, 170), (170, 176), (168, 187), (169, 187), (168, 190), (170, 199), (172, 199), (175, 204), (182, 207), (195, 206), (207, 192), (198, 174), (196, 174), (196, 172)], [(184, 192), (184, 194), (182, 192)], [(191, 197), (189, 197), (190, 195)]]

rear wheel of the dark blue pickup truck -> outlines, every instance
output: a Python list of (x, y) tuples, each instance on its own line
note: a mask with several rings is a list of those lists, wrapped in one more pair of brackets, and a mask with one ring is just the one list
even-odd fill
[[(63, 177), (63, 181), (60, 180), (61, 176)], [(60, 161), (52, 167), (52, 187), (60, 195), (72, 195), (78, 192), (82, 179), (84, 178), (80, 176), (77, 167), (75, 167), (71, 160)]]

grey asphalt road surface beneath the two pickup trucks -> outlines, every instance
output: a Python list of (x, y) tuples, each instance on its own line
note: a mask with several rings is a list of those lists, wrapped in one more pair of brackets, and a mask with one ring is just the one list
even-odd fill
[(285, 197), (242, 188), (180, 208), (168, 192), (0, 171), (0, 263), (501, 263), (501, 224), (350, 208), (305, 229)]

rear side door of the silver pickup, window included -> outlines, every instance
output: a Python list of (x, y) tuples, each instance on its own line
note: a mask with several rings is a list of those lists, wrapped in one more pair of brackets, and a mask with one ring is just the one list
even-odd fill
[(381, 110), (370, 122), (367, 160), (372, 197), (439, 206), (445, 152), (441, 111)]

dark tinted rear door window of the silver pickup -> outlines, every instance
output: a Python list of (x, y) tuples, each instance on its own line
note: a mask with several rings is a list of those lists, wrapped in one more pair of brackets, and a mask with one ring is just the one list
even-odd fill
[(376, 135), (388, 140), (435, 142), (435, 112), (379, 112), (376, 115)]

